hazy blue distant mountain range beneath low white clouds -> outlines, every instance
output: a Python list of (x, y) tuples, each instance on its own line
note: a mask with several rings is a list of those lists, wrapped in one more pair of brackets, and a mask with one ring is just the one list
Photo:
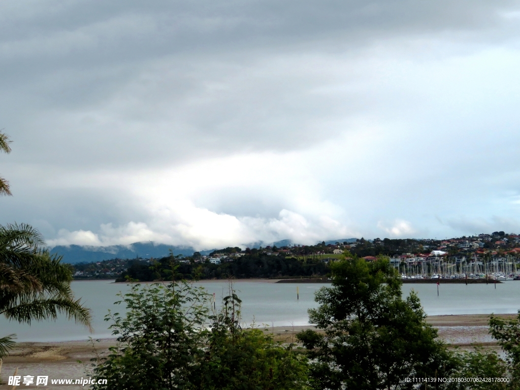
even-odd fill
[[(342, 238), (339, 240), (325, 241), (326, 244), (334, 244), (336, 242), (353, 242), (355, 238)], [(259, 248), (267, 245), (292, 246), (294, 242), (291, 240), (281, 240), (274, 243), (265, 243), (263, 241), (251, 243), (247, 245), (249, 248)], [(87, 246), (87, 245), (58, 245), (50, 249), (50, 253), (56, 253), (63, 256), (64, 263), (92, 263), (112, 258), (161, 258), (170, 255), (170, 249), (174, 255), (191, 256), (195, 250), (191, 246), (175, 246), (166, 244), (157, 244), (149, 242), (134, 242), (130, 245), (111, 245), (111, 246)], [(201, 255), (208, 255), (215, 249), (207, 251), (199, 251)]]

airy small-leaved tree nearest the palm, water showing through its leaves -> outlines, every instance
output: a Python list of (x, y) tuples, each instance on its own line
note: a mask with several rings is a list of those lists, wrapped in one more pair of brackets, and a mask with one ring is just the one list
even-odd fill
[(109, 314), (118, 345), (95, 363), (107, 379), (93, 389), (191, 389), (200, 381), (209, 295), (188, 283), (132, 285), (116, 304), (126, 315)]

